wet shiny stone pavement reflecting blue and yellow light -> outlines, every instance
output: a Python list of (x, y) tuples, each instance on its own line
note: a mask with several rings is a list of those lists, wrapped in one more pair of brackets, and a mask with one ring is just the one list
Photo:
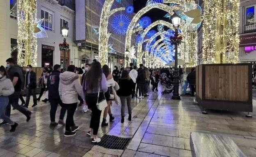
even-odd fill
[[(150, 93), (143, 100), (133, 100), (133, 118), (120, 122), (120, 106), (113, 104), (115, 122), (99, 130), (104, 134), (132, 137), (126, 150), (110, 150), (91, 144), (86, 137), (89, 113), (76, 111), (75, 123), (81, 129), (74, 137), (64, 137), (64, 127), (49, 128), (49, 105), (33, 108), (30, 122), (16, 111), (12, 119), (20, 125), (15, 133), (0, 127), (1, 157), (191, 157), (190, 133), (201, 132), (229, 136), (247, 155), (256, 157), (256, 102), (253, 118), (245, 113), (201, 109), (193, 97), (171, 100), (171, 95)], [(31, 108), (30, 108), (31, 109)], [(127, 114), (127, 113), (126, 113)], [(59, 115), (59, 114), (57, 114)], [(56, 115), (56, 117), (57, 117)]]

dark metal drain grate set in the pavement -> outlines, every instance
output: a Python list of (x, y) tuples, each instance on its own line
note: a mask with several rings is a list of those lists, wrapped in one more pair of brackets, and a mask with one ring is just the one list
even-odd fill
[(101, 142), (98, 144), (98, 146), (102, 146), (107, 149), (124, 150), (128, 146), (130, 140), (131, 138), (104, 135), (101, 138)]

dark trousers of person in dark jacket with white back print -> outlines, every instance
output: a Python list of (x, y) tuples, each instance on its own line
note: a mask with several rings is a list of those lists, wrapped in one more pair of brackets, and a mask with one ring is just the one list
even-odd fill
[(62, 101), (60, 99), (51, 99), (50, 100), (50, 119), (51, 122), (55, 122), (55, 114), (57, 111), (58, 104), (62, 107), (60, 110), (59, 120), (64, 119), (64, 115), (66, 113), (66, 108), (63, 106)]

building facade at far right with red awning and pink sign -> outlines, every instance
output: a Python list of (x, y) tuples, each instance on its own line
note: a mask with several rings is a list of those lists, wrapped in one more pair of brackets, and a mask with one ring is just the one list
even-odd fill
[(240, 62), (256, 62), (256, 0), (240, 1)]

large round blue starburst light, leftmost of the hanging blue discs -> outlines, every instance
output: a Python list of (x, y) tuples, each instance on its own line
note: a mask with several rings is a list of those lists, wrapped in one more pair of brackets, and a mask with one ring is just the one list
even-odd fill
[(127, 15), (117, 15), (112, 21), (112, 30), (118, 34), (126, 34), (131, 20)]

